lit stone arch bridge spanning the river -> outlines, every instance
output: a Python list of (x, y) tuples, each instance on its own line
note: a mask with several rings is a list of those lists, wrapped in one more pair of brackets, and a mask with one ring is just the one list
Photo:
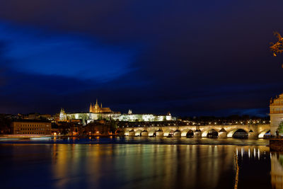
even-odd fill
[(270, 131), (270, 125), (179, 125), (162, 127), (120, 127), (117, 131), (124, 132), (126, 136), (141, 137), (207, 137), (211, 132), (217, 132), (219, 138), (231, 138), (238, 130), (248, 133), (249, 139), (263, 138)]

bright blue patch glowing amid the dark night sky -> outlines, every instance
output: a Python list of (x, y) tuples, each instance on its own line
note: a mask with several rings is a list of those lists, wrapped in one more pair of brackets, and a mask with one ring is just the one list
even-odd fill
[(81, 35), (57, 34), (0, 23), (8, 65), (18, 72), (108, 81), (132, 71), (134, 50), (105, 46)]

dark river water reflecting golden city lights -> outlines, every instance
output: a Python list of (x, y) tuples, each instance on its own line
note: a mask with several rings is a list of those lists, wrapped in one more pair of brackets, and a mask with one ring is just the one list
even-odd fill
[(267, 144), (264, 139), (2, 139), (0, 183), (1, 188), (283, 188), (283, 155)]

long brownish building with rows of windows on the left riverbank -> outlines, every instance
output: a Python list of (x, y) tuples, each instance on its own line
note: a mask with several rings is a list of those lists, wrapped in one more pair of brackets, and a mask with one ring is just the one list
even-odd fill
[(13, 134), (51, 134), (51, 122), (43, 120), (18, 120), (12, 122), (12, 127)]

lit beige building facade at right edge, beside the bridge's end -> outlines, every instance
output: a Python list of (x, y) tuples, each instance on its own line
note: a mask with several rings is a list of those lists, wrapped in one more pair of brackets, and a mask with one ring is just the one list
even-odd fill
[(276, 130), (283, 121), (283, 93), (275, 99), (270, 99), (270, 133), (276, 134)]

